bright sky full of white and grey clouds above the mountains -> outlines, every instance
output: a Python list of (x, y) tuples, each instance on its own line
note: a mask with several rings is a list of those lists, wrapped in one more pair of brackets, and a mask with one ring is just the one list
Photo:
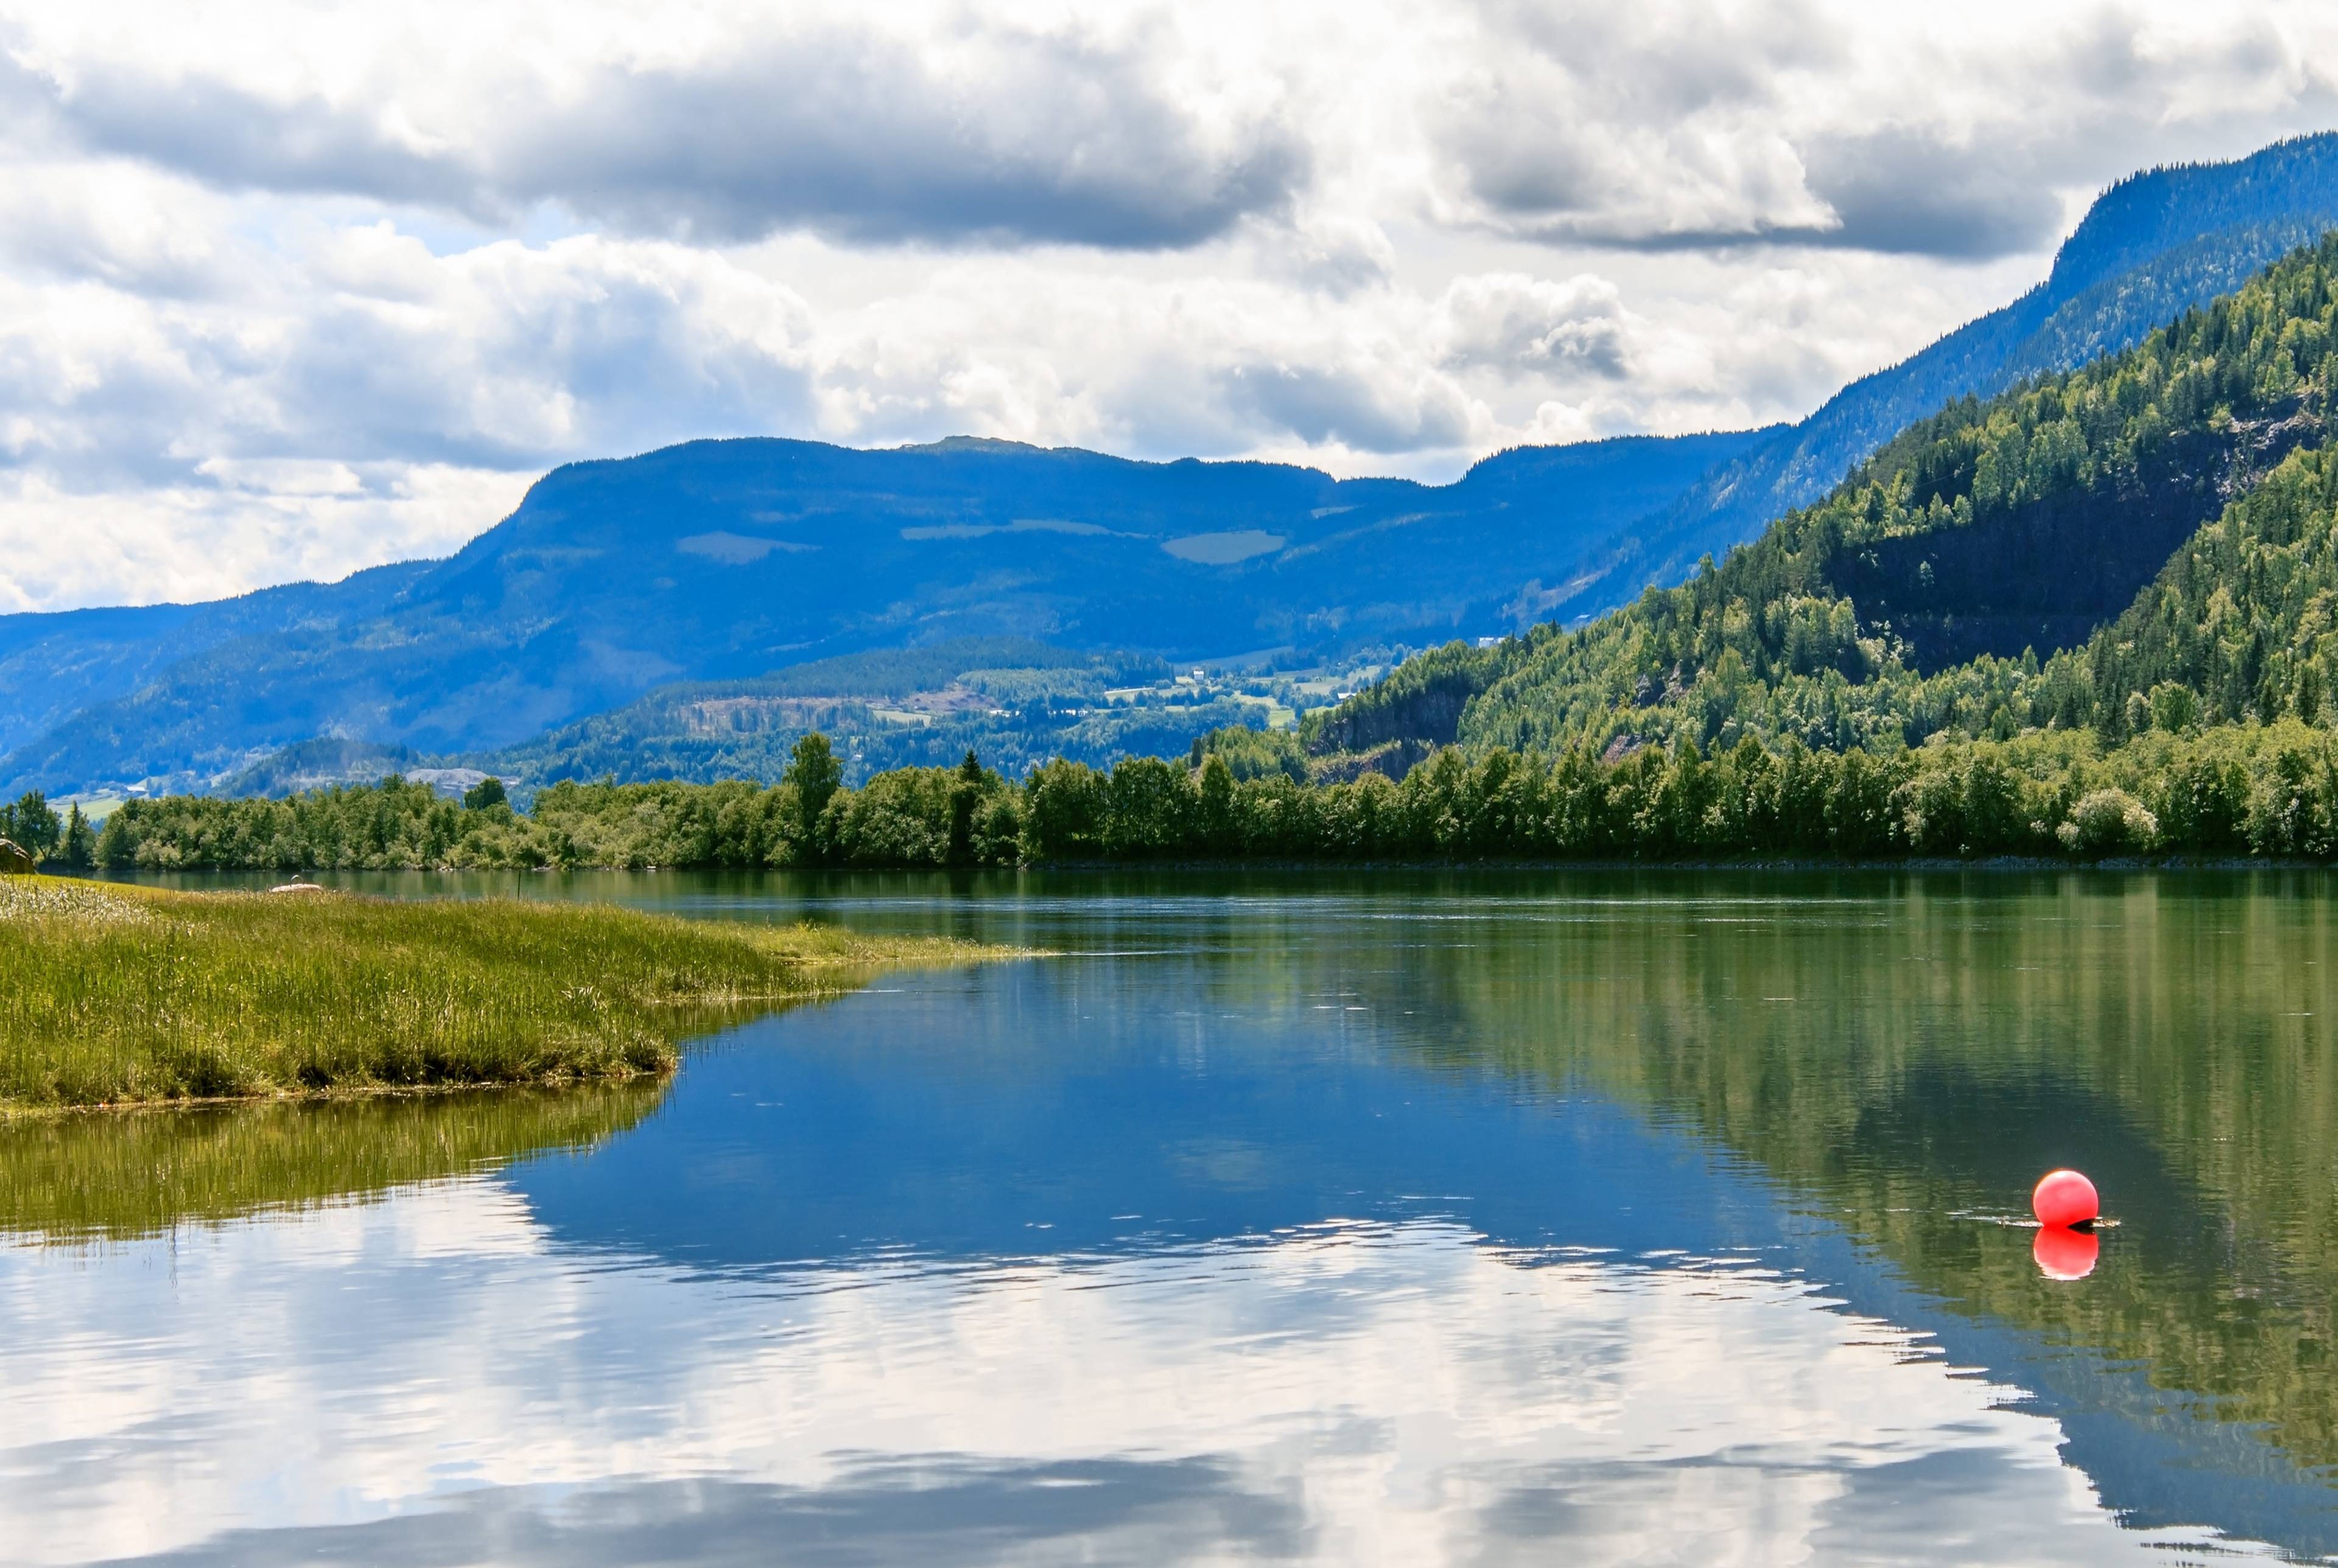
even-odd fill
[(1452, 479), (1798, 418), (2326, 5), (0, 0), (0, 612), (440, 556), (678, 439)]

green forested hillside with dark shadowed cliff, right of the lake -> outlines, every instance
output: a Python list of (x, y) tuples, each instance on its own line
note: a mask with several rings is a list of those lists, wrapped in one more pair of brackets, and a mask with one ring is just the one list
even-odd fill
[(1679, 589), (1414, 661), (1314, 745), (2326, 722), (2333, 339), (2338, 236), (2137, 348), (1912, 425)]

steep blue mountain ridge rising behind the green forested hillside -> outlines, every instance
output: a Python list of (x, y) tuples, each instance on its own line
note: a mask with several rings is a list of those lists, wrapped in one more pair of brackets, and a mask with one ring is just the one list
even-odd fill
[(1632, 601), (1644, 584), (1681, 582), (1700, 556), (1718, 556), (1772, 516), (1821, 498), (1917, 418), (2130, 348), (2331, 227), (2338, 133), (2275, 143), (2230, 164), (2130, 175), (2095, 201), (2046, 283), (1728, 458), (1637, 521), (1602, 570), (1555, 596), (1550, 610), (1580, 619)]

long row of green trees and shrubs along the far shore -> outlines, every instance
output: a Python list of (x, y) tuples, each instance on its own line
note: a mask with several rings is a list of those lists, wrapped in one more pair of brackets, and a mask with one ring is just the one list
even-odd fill
[[(968, 757), (860, 790), (821, 736), (774, 788), (559, 783), (531, 813), (383, 780), (288, 802), (131, 802), (91, 846), (117, 869), (949, 867), (1176, 860), (2338, 858), (2324, 729), (2149, 729), (1934, 741), (1889, 752), (1742, 738), (1557, 757), (1447, 748), (1403, 783), (1309, 778), (1298, 741), (1220, 731), (1190, 759)], [(1316, 764), (1319, 766), (1319, 764)]]

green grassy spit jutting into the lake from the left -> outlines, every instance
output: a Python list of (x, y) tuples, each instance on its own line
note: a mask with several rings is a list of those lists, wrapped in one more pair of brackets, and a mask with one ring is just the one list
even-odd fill
[(666, 1073), (690, 1033), (994, 953), (606, 904), (0, 876), (0, 1110)]

